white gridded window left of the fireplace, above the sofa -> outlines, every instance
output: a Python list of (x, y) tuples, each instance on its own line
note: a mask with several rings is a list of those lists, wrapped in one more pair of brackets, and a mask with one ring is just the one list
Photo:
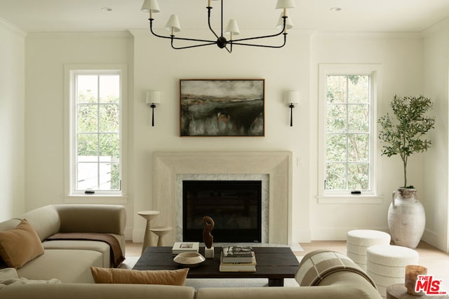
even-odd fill
[(69, 194), (121, 194), (124, 69), (67, 72)]

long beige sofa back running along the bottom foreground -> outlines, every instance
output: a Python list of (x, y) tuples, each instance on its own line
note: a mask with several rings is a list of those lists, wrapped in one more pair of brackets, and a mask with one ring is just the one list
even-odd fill
[(24, 284), (0, 288), (2, 299), (381, 299), (356, 272), (333, 272), (317, 286), (199, 288), (145, 284)]

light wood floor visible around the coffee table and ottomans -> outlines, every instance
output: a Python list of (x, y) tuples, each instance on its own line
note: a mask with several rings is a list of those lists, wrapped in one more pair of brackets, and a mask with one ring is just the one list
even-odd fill
[[(346, 254), (346, 241), (313, 241), (300, 243), (300, 245), (304, 251), (295, 251), (297, 256), (304, 256), (317, 249), (328, 249)], [(427, 273), (434, 275), (435, 279), (441, 279), (443, 288), (449, 291), (449, 254), (426, 242), (420, 242), (415, 250), (420, 256), (419, 264), (427, 267)], [(126, 242), (126, 256), (140, 256), (140, 251), (142, 251), (142, 243)]]

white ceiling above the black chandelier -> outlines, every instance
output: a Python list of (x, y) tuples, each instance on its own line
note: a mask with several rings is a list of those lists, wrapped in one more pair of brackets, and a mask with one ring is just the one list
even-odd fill
[[(449, 16), (448, 0), (295, 0), (289, 10), (295, 29), (318, 32), (422, 32)], [(123, 32), (148, 27), (143, 0), (0, 0), (0, 18), (25, 32)], [(236, 18), (245, 29), (276, 25), (276, 0), (224, 0), (225, 25)], [(159, 0), (154, 26), (170, 14), (183, 29), (207, 26), (206, 0)], [(213, 27), (219, 27), (220, 1), (213, 1)], [(330, 11), (339, 7), (341, 11)], [(111, 8), (106, 11), (102, 8)]]

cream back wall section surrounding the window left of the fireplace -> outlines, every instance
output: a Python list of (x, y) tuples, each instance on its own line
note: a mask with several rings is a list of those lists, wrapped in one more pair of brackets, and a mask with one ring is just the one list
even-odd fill
[[(126, 64), (128, 74), (132, 73), (133, 39), (128, 33), (33, 33), (27, 36), (25, 52), (25, 190), (26, 209), (30, 210), (69, 202), (64, 189), (65, 64)], [(132, 90), (132, 76), (128, 81)], [(127, 100), (132, 104), (132, 92)], [(130, 203), (124, 205), (133, 223)]]

